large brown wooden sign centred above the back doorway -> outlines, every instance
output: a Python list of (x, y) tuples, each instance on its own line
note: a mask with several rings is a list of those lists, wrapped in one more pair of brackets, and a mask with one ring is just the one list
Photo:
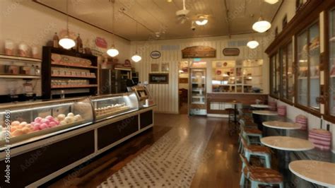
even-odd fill
[(216, 49), (213, 47), (193, 46), (182, 49), (182, 58), (216, 57)]

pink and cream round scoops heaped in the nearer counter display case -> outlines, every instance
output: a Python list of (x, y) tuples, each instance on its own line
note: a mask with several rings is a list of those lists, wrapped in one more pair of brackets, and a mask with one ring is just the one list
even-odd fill
[[(83, 118), (80, 114), (74, 114), (70, 112), (69, 114), (59, 114), (57, 117), (47, 116), (47, 117), (36, 117), (33, 122), (11, 122), (10, 127), (10, 137), (22, 136), (25, 134), (31, 134), (33, 132), (42, 131), (45, 129), (50, 129), (54, 127), (60, 127), (69, 124), (78, 124)], [(4, 140), (8, 130), (6, 127), (0, 125), (0, 140)]]

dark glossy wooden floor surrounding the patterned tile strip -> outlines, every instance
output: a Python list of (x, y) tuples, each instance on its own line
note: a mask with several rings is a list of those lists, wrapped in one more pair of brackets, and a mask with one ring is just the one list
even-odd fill
[[(93, 158), (78, 168), (48, 182), (43, 187), (97, 187), (150, 147), (172, 127), (192, 128), (190, 119), (213, 125), (201, 165), (192, 180), (192, 187), (239, 187), (240, 160), (237, 136), (229, 136), (228, 122), (222, 118), (188, 117), (187, 114), (155, 114), (155, 127)], [(187, 130), (187, 129), (186, 129)]]

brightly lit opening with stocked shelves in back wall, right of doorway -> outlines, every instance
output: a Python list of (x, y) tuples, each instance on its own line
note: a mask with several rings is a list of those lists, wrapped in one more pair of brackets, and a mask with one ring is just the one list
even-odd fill
[(212, 62), (212, 92), (261, 93), (262, 59)]

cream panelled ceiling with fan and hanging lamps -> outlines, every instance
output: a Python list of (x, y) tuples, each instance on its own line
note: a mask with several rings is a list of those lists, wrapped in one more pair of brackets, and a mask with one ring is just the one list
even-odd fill
[[(66, 12), (66, 0), (35, 1)], [(114, 33), (127, 40), (252, 33), (252, 24), (259, 16), (271, 21), (282, 1), (271, 5), (264, 0), (186, 0), (190, 20), (180, 24), (177, 23), (175, 12), (182, 9), (182, 0), (172, 0), (170, 3), (167, 0), (115, 0)], [(196, 25), (193, 31), (191, 20), (199, 14), (209, 15), (208, 24)], [(110, 0), (69, 0), (69, 15), (112, 32)], [(135, 20), (139, 23), (137, 34)], [(156, 37), (155, 33), (159, 33), (160, 37)]]

